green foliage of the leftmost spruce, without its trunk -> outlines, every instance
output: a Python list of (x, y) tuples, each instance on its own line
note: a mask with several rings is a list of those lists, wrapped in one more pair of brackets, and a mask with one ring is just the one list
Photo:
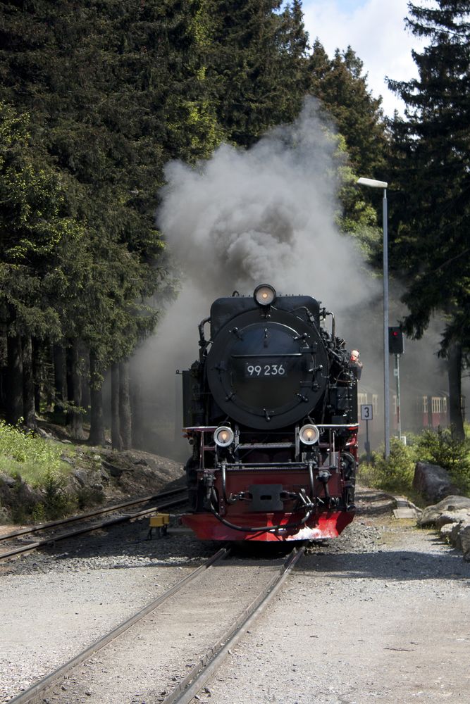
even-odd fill
[(63, 212), (64, 191), (30, 120), (0, 101), (0, 306), (9, 332), (58, 337), (47, 273), (77, 223)]

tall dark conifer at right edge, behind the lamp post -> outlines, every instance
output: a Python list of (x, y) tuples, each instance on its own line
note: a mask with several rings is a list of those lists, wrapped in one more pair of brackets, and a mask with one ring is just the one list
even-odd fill
[(470, 2), (410, 4), (407, 23), (429, 44), (413, 52), (419, 77), (390, 81), (407, 106), (393, 125), (397, 235), (392, 265), (407, 280), (407, 331), (421, 337), (433, 311), (447, 320), (450, 418), (463, 436), (461, 365), (470, 350)]

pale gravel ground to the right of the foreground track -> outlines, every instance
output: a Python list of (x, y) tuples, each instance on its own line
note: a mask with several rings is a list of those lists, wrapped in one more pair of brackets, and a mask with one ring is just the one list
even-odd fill
[(435, 533), (359, 519), (302, 560), (199, 704), (470, 703), (469, 587)]

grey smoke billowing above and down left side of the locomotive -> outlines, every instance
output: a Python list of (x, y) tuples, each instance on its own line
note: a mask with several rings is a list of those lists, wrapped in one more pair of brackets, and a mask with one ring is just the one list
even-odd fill
[(337, 314), (337, 333), (350, 348), (359, 346), (360, 335), (372, 348), (380, 344), (380, 324), (376, 341), (357, 327), (367, 317), (363, 303), (380, 298), (380, 284), (354, 239), (335, 226), (337, 149), (333, 128), (309, 99), (296, 122), (252, 149), (225, 144), (196, 168), (168, 164), (157, 222), (183, 272), (181, 293), (137, 360), (144, 386), (153, 391), (147, 416), (159, 429), (158, 441), (151, 441), (159, 453), (176, 454), (181, 391), (175, 370), (197, 358), (197, 325), (219, 296), (235, 289), (251, 295), (261, 282), (278, 293), (308, 294)]

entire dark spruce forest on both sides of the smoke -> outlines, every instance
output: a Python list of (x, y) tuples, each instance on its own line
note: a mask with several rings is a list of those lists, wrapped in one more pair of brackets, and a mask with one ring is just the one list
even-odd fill
[[(470, 350), (470, 2), (410, 4), (429, 46), (407, 106), (385, 119), (354, 47), (328, 56), (292, 0), (0, 1), (0, 414), (34, 429), (144, 448), (130, 359), (174, 295), (156, 229), (163, 168), (223, 142), (247, 149), (318, 99), (340, 136), (340, 228), (381, 270), (376, 201), (387, 180), (390, 266), (407, 333), (445, 316), (451, 420)], [(311, 41), (312, 40), (312, 41)], [(372, 194), (373, 195), (373, 194)], [(103, 383), (111, 377), (111, 401)], [(453, 399), (453, 405), (452, 405)], [(108, 407), (109, 406), (109, 407)], [(86, 430), (85, 430), (86, 428)]]

